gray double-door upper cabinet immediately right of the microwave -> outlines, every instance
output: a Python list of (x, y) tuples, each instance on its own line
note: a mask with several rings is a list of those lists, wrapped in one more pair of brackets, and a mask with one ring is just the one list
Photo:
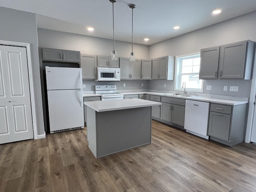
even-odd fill
[(129, 58), (119, 58), (120, 60), (120, 78), (140, 80), (140, 59), (130, 62)]

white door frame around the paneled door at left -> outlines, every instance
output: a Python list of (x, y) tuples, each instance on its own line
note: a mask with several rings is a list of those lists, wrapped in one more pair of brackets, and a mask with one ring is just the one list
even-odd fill
[[(28, 61), (28, 80), (29, 80), (29, 89), (30, 89), (30, 102), (31, 102), (31, 110), (32, 110), (33, 132), (34, 132), (34, 139), (38, 139), (30, 43), (0, 40), (0, 45), (11, 45), (11, 46), (26, 47), (27, 61)], [(45, 137), (45, 135), (44, 135), (44, 137)], [(40, 138), (44, 138), (44, 137), (40, 137)]]

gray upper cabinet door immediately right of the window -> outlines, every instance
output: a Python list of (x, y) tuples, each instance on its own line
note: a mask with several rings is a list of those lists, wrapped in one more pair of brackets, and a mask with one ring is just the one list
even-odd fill
[(216, 79), (218, 76), (220, 47), (202, 49), (199, 79)]

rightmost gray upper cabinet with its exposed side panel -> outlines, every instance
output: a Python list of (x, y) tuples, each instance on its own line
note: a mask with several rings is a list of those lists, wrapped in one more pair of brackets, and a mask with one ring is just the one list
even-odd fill
[(253, 53), (252, 41), (220, 46), (220, 78), (250, 79)]

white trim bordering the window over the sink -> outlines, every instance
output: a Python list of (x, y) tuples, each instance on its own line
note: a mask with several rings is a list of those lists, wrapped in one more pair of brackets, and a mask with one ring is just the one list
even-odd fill
[[(186, 54), (186, 55), (180, 55), (180, 56), (175, 57), (174, 91), (184, 91), (183, 88), (182, 89), (176, 88), (176, 87), (178, 87), (178, 83), (179, 83), (178, 76), (180, 75), (180, 66), (178, 66), (179, 64), (177, 62), (178, 58), (190, 57), (190, 56), (195, 56), (195, 55), (200, 55), (200, 52)], [(188, 92), (192, 92), (192, 93), (203, 93), (204, 92), (204, 80), (202, 80), (202, 89), (201, 90), (195, 90), (195, 89), (189, 89), (189, 88), (186, 88), (186, 90)]]

